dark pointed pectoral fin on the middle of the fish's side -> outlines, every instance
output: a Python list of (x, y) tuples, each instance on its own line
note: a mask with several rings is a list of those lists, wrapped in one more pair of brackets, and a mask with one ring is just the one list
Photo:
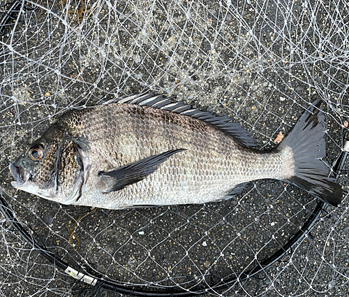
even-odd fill
[(110, 176), (115, 179), (115, 183), (109, 191), (104, 193), (110, 193), (112, 191), (119, 191), (127, 187), (129, 184), (134, 184), (135, 182), (140, 182), (144, 180), (149, 174), (154, 173), (158, 166), (165, 162), (172, 154), (177, 152), (183, 152), (184, 149), (179, 150), (169, 150), (161, 154), (156, 154), (139, 161), (135, 161), (131, 164), (121, 166), (113, 171), (98, 173), (100, 177), (105, 175)]

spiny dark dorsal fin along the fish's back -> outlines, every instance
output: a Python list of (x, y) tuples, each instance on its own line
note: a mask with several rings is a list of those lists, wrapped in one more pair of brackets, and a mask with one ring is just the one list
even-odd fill
[[(170, 98), (171, 99), (171, 98)], [(229, 117), (218, 117), (212, 115), (208, 111), (202, 111), (198, 108), (192, 108), (182, 102), (173, 102), (170, 99), (166, 99), (163, 95), (155, 95), (154, 93), (141, 94), (128, 96), (121, 98), (118, 103), (131, 103), (138, 104), (140, 106), (149, 106), (152, 108), (159, 108), (163, 110), (171, 111), (172, 113), (179, 113), (180, 115), (188, 115), (195, 117), (195, 119), (201, 119), (202, 121), (208, 122), (211, 125), (216, 126), (222, 131), (228, 132), (234, 140), (244, 147), (256, 147), (257, 143), (251, 135), (242, 127), (239, 123), (227, 122), (230, 120)]]

